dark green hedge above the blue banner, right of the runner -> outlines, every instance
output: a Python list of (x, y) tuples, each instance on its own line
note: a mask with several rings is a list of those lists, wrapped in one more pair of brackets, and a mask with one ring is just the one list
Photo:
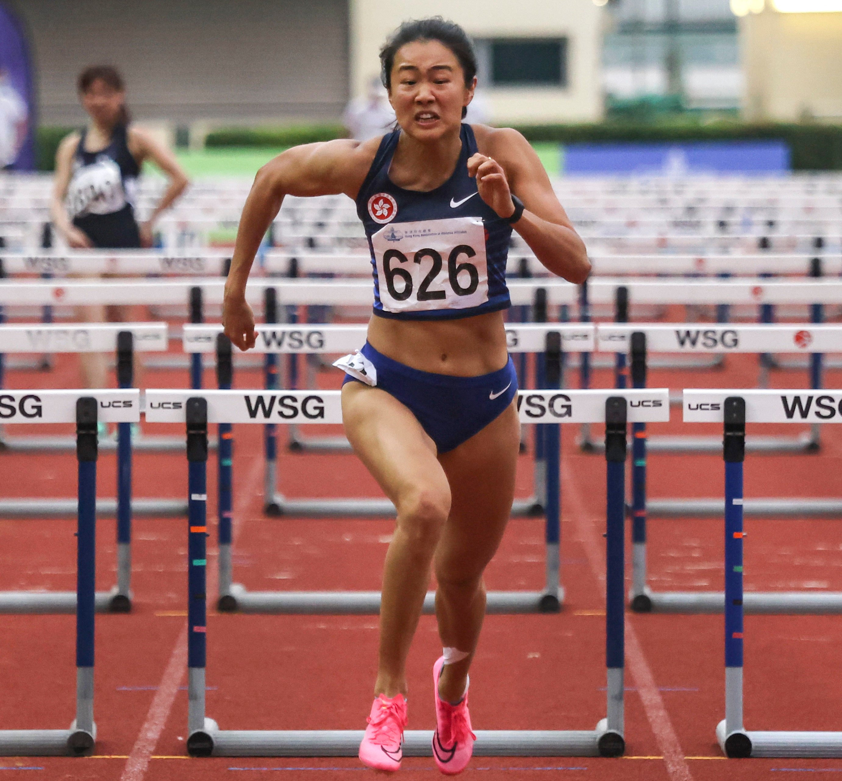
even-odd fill
[(573, 144), (594, 141), (786, 141), (797, 171), (842, 170), (840, 125), (746, 125), (717, 122), (707, 125), (674, 122), (605, 122), (601, 125), (523, 125), (518, 127), (529, 141)]

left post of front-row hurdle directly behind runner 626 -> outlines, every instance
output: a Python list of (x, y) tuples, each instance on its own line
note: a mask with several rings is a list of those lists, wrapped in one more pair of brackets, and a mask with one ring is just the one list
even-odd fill
[(187, 603), (187, 694), (188, 738), (191, 754), (210, 752), (205, 733), (205, 661), (207, 638), (207, 401), (187, 400), (187, 495), (188, 495), (188, 603)]

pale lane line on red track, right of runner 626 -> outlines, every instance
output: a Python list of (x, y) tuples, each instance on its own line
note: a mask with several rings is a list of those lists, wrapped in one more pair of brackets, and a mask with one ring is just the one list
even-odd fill
[[(579, 537), (584, 545), (588, 564), (596, 579), (605, 584), (605, 550), (600, 532), (595, 528), (593, 514), (585, 507), (578, 480), (570, 470), (569, 458), (562, 459), (562, 495), (567, 498), (575, 519)], [(630, 621), (626, 621), (626, 665), (637, 686), (637, 693), (643, 704), (643, 710), (649, 726), (658, 743), (658, 751), (663, 756), (669, 778), (673, 781), (693, 781), (690, 768), (685, 762), (678, 736), (675, 734), (672, 720), (663, 704), (661, 693), (655, 683), (655, 677), (646, 661), (637, 632)]]

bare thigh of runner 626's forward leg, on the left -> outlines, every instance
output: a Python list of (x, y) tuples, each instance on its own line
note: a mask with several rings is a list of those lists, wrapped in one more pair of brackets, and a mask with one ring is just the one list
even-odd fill
[(394, 396), (360, 382), (346, 383), (342, 418), (354, 453), (396, 506), (413, 491), (449, 496), (433, 440)]

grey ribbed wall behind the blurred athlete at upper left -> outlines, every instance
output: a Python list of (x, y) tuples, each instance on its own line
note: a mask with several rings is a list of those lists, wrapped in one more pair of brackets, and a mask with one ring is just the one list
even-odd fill
[(347, 0), (12, 0), (29, 27), (45, 125), (81, 124), (77, 73), (118, 66), (136, 119), (338, 120)]

